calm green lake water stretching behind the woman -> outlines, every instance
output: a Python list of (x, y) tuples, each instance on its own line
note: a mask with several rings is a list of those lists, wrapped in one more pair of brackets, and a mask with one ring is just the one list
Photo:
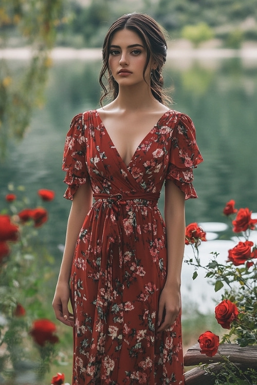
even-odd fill
[[(28, 197), (31, 206), (39, 204), (39, 188), (56, 191), (54, 201), (46, 205), (49, 223), (42, 228), (42, 234), (57, 265), (70, 208), (70, 202), (62, 198), (64, 140), (71, 118), (98, 106), (100, 67), (99, 59), (55, 60), (49, 71), (44, 107), (34, 111), (24, 139), (8, 144), (7, 156), (1, 164), (2, 207), (6, 205), (4, 197), (10, 183), (25, 187), (25, 192), (18, 195)], [(226, 260), (227, 250), (234, 243), (230, 230), (223, 229), (225, 203), (234, 199), (237, 208), (249, 207), (257, 212), (257, 60), (204, 60), (182, 55), (168, 60), (164, 80), (173, 88), (173, 108), (186, 112), (194, 121), (197, 143), (205, 160), (195, 170), (194, 185), (199, 199), (186, 203), (187, 224), (200, 222), (204, 227), (208, 222), (209, 241), (200, 246), (200, 255), (208, 260), (211, 251), (219, 251)], [(162, 211), (163, 197), (159, 207)], [(190, 253), (187, 247), (186, 255)], [(203, 286), (200, 279), (192, 284), (192, 274), (192, 267), (183, 266), (185, 302), (208, 304), (213, 288)]]

